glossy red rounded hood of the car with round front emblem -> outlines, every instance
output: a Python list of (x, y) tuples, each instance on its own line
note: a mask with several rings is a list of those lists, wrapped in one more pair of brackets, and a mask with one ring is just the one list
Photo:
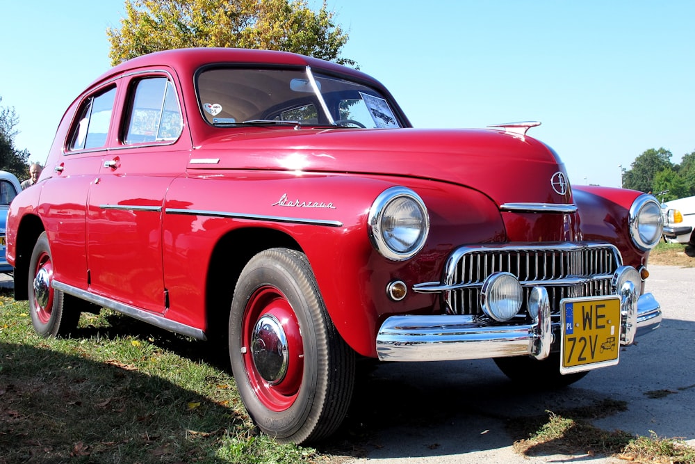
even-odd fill
[(553, 189), (557, 173), (567, 179), (562, 162), (528, 136), (494, 129), (233, 130), (196, 147), (189, 169), (418, 177), (467, 186), (498, 205), (571, 202), (569, 187), (563, 193), (555, 182)]

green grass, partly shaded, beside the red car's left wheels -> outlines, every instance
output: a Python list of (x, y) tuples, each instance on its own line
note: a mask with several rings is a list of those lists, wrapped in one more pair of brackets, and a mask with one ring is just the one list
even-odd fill
[(0, 295), (0, 463), (332, 461), (258, 433), (210, 349), (108, 311), (41, 338)]

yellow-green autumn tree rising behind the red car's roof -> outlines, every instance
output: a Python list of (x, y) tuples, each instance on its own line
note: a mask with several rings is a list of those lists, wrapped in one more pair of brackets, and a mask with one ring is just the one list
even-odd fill
[(340, 57), (347, 33), (326, 0), (126, 0), (120, 29), (106, 29), (111, 63), (174, 48), (238, 47), (293, 51), (354, 65)]

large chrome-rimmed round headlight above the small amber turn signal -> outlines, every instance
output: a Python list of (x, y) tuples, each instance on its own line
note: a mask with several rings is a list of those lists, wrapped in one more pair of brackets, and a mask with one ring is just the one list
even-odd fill
[(384, 257), (403, 261), (425, 246), (430, 217), (417, 193), (405, 187), (386, 189), (369, 210), (369, 236)]

